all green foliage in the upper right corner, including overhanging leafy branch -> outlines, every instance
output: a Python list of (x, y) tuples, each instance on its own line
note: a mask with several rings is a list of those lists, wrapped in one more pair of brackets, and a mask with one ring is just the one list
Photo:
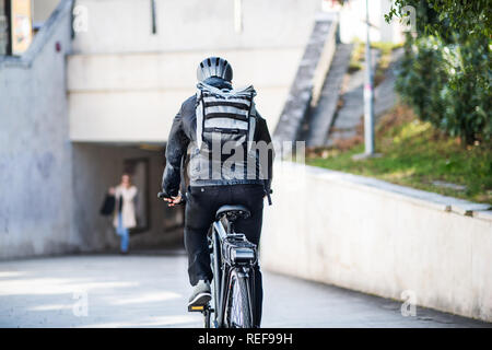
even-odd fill
[(417, 115), (467, 144), (492, 140), (489, 1), (396, 0), (387, 21), (415, 9), (396, 89)]

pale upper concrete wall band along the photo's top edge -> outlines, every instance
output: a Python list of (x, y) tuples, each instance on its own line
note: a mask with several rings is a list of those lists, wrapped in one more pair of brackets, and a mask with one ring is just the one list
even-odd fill
[[(121, 54), (302, 47), (319, 0), (245, 0), (243, 30), (235, 31), (231, 0), (155, 0), (152, 34), (150, 0), (77, 0), (86, 8), (87, 31), (78, 33), (74, 52)], [(110, 19), (110, 20), (108, 20)]]

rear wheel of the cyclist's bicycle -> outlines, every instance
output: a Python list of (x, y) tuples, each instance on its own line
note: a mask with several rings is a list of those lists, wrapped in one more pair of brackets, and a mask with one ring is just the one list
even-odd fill
[(231, 275), (226, 325), (230, 328), (253, 328), (251, 305), (246, 277), (234, 270)]

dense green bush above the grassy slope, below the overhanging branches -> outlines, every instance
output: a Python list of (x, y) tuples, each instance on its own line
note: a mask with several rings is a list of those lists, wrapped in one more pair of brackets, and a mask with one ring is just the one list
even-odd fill
[(467, 144), (492, 141), (489, 40), (408, 36), (405, 49), (396, 89), (418, 116)]

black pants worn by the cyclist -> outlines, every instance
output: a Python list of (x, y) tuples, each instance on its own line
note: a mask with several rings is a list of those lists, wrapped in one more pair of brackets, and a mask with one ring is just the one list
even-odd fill
[[(223, 205), (243, 205), (249, 209), (248, 219), (234, 223), (237, 233), (258, 246), (263, 214), (262, 185), (192, 186), (188, 188), (185, 211), (185, 247), (188, 253), (188, 275), (191, 285), (199, 280), (212, 281), (207, 233), (215, 221), (215, 212)], [(255, 268), (255, 326), (261, 322), (263, 291), (259, 265)]]

